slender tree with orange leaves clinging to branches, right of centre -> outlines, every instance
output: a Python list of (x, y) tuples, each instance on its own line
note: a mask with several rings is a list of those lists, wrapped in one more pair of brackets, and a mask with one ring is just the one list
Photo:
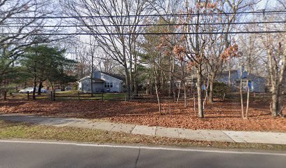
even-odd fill
[(182, 36), (181, 43), (177, 44), (174, 48), (174, 52), (178, 57), (182, 57), (182, 53), (188, 59), (189, 66), (196, 69), (197, 78), (197, 92), (198, 92), (198, 118), (204, 118), (203, 112), (203, 67), (207, 60), (205, 49), (207, 48), (207, 41), (210, 38), (206, 34), (200, 34), (200, 32), (209, 31), (210, 27), (201, 25), (203, 22), (211, 22), (212, 18), (200, 15), (202, 11), (205, 13), (214, 10), (214, 3), (203, 3), (200, 0), (186, 1), (185, 12), (193, 11), (196, 16), (187, 17), (184, 23), (193, 23), (192, 25), (186, 25), (179, 29), (182, 32), (194, 32), (196, 34), (184, 34)]

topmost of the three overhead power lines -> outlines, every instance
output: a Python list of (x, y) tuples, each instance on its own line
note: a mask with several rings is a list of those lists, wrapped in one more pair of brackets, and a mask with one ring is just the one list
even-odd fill
[[(241, 14), (286, 14), (286, 10), (249, 11), (237, 13), (179, 13), (179, 14), (151, 14), (151, 15), (82, 15), (82, 16), (39, 16), (39, 17), (10, 17), (9, 19), (76, 19), (76, 18), (149, 18), (149, 17), (187, 17), (198, 15), (241, 15)], [(4, 19), (1, 17), (1, 19)]]

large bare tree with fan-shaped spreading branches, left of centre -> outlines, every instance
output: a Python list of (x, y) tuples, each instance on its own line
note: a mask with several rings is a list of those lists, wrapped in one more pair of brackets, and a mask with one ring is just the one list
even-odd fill
[[(127, 92), (128, 97), (130, 97), (133, 84), (133, 58), (136, 53), (137, 39), (134, 33), (143, 30), (137, 25), (139, 22), (144, 22), (144, 19), (137, 17), (137, 15), (148, 13), (146, 9), (150, 5), (150, 1), (67, 0), (63, 1), (63, 4), (68, 9), (68, 14), (76, 16), (88, 15), (91, 17), (77, 18), (78, 22), (86, 25), (86, 27), (81, 27), (81, 31), (92, 34), (100, 48), (124, 67)], [(102, 15), (107, 17), (100, 17)], [(134, 15), (134, 17), (124, 17), (125, 15)], [(90, 25), (102, 25), (103, 27)], [(130, 26), (123, 27), (121, 25)], [(102, 33), (107, 35), (100, 35)], [(131, 35), (126, 36), (124, 35), (125, 33), (131, 33)]]

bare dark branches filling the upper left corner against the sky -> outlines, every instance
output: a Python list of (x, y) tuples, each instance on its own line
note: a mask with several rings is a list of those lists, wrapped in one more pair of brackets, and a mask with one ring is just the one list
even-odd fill
[[(40, 27), (29, 28), (29, 25), (42, 25), (43, 20), (36, 18), (33, 19), (13, 19), (12, 17), (19, 16), (43, 16), (39, 9), (43, 8), (43, 3), (34, 3), (33, 0), (29, 1), (0, 1), (0, 58), (1, 58), (1, 70), (0, 75), (4, 75), (9, 72), (9, 67), (15, 60), (22, 54), (23, 49), (29, 45), (35, 43), (33, 37), (29, 33), (35, 33), (40, 31)], [(35, 12), (33, 12), (35, 11)], [(10, 27), (10, 25), (13, 27)], [(16, 26), (16, 27), (15, 27)], [(21, 35), (25, 32), (27, 34)], [(15, 34), (13, 34), (15, 33)]]

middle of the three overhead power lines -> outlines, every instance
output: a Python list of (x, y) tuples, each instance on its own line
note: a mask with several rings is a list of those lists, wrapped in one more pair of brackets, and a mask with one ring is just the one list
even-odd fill
[[(25, 27), (148, 27), (148, 26), (186, 26), (186, 25), (254, 25), (254, 24), (280, 24), (286, 21), (271, 21), (271, 22), (232, 22), (232, 23), (170, 23), (170, 24), (141, 24), (141, 25), (28, 25)], [(17, 25), (19, 24), (19, 25)], [(2, 25), (1, 27), (21, 27), (20, 23), (15, 25)]]

